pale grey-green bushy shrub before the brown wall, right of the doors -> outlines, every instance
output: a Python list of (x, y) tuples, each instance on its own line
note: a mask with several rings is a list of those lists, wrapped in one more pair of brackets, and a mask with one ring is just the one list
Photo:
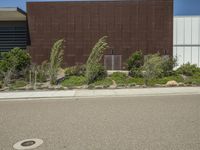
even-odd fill
[(142, 69), (145, 84), (148, 85), (149, 80), (161, 76), (163, 72), (161, 56), (159, 54), (147, 55)]

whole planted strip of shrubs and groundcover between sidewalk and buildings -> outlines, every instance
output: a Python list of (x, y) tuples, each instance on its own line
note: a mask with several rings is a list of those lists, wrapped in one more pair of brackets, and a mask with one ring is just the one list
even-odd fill
[(123, 68), (107, 71), (101, 59), (109, 47), (102, 37), (93, 47), (85, 64), (62, 68), (63, 42), (52, 47), (49, 60), (40, 65), (31, 62), (29, 54), (14, 48), (1, 55), (0, 91), (117, 89), (146, 87), (200, 86), (200, 68), (193, 64), (177, 67), (176, 59), (160, 54), (134, 52)]

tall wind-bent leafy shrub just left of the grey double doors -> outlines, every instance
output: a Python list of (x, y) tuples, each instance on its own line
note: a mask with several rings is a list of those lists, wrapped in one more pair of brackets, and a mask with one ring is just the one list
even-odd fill
[(86, 63), (87, 83), (91, 84), (95, 80), (102, 79), (106, 76), (105, 68), (100, 64), (104, 51), (108, 48), (107, 36), (102, 37), (95, 44)]

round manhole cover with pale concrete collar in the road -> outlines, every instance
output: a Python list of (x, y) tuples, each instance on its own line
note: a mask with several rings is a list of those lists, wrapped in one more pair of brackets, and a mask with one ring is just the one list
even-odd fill
[(35, 149), (42, 145), (42, 143), (43, 141), (41, 139), (26, 139), (17, 142), (15, 145), (13, 145), (13, 148), (16, 150)]

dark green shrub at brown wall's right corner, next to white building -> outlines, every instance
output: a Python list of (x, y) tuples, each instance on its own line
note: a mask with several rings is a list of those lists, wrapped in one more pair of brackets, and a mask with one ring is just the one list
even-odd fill
[(177, 59), (169, 56), (162, 57), (162, 75), (164, 77), (171, 76), (175, 74), (173, 70), (177, 66)]

